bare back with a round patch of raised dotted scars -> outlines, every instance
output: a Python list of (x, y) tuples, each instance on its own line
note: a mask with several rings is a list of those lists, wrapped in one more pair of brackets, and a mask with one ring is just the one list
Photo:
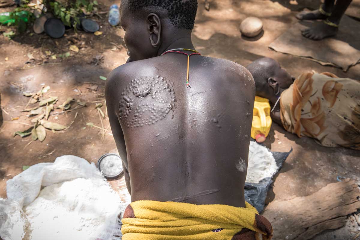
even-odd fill
[(194, 55), (186, 88), (186, 61), (170, 53), (108, 76), (131, 199), (244, 207), (255, 83), (237, 63)]

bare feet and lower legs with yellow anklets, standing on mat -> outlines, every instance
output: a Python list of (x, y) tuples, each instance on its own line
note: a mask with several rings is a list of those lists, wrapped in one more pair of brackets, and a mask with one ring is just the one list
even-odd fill
[(304, 37), (312, 40), (321, 40), (337, 34), (342, 16), (352, 0), (325, 0), (319, 9), (314, 11), (302, 11), (296, 15), (300, 20), (324, 19), (323, 22), (315, 23), (311, 28), (304, 29), (301, 33)]

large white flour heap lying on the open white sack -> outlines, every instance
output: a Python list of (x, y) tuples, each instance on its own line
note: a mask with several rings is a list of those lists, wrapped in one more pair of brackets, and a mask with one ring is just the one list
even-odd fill
[(29, 223), (26, 236), (29, 240), (96, 239), (99, 229), (120, 213), (121, 205), (103, 179), (53, 184), (24, 207)]

